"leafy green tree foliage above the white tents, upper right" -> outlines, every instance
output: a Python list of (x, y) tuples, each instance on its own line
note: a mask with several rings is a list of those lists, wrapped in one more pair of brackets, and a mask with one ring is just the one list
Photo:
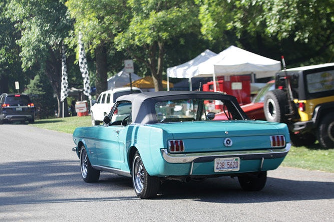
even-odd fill
[(225, 39), (288, 64), (328, 62), (333, 51), (333, 0), (196, 0), (205, 38)]

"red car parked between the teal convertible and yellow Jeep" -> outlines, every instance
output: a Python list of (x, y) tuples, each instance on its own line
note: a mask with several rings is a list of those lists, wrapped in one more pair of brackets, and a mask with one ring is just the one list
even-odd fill
[[(259, 91), (251, 103), (242, 105), (242, 110), (247, 114), (249, 119), (265, 120), (263, 112), (264, 95), (267, 91), (275, 89), (275, 80), (267, 82), (267, 84)], [(214, 120), (226, 120), (227, 117), (224, 112), (215, 115)]]

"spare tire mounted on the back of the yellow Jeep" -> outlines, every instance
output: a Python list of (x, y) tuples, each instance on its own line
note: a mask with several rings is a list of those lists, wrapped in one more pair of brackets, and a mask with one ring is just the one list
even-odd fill
[(263, 111), (269, 122), (286, 123), (285, 107), (287, 106), (286, 93), (281, 89), (274, 89), (265, 94)]

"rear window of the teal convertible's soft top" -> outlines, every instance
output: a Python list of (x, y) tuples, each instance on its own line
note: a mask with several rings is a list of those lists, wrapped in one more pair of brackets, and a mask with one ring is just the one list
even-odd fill
[(208, 121), (217, 113), (226, 120), (242, 119), (231, 101), (210, 98), (160, 101), (155, 104), (155, 112), (158, 123)]

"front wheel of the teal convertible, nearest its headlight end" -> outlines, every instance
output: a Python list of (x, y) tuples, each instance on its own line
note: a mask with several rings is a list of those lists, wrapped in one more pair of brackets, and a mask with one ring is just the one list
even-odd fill
[(86, 183), (96, 183), (100, 178), (100, 171), (92, 167), (84, 146), (82, 146), (80, 150), (80, 171), (82, 179), (84, 179)]

